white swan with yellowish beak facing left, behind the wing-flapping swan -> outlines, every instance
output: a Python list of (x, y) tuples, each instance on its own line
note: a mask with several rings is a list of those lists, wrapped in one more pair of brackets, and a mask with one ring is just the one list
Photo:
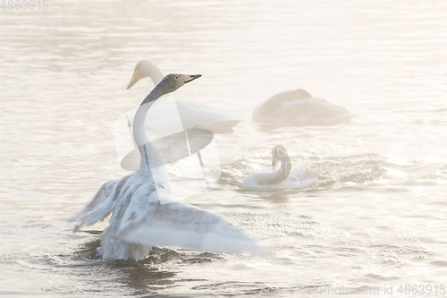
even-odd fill
[[(158, 84), (163, 78), (163, 72), (161, 72), (155, 64), (152, 64), (147, 60), (141, 60), (135, 66), (131, 82), (129, 83), (129, 86), (127, 86), (127, 89), (130, 89), (137, 81), (146, 77), (151, 78), (154, 84)], [(173, 96), (170, 96), (170, 98), (170, 100), (175, 100), (181, 117), (181, 123), (185, 129), (201, 128), (216, 133), (232, 132), (232, 127), (244, 120), (243, 118), (235, 117), (197, 102), (178, 100), (174, 99)], [(166, 115), (163, 115), (163, 118), (157, 123), (168, 121), (169, 118), (166, 119)], [(150, 123), (146, 123), (146, 126), (152, 128)]]

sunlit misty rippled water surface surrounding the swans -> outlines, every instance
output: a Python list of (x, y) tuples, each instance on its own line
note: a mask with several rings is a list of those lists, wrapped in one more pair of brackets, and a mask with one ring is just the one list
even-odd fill
[[(394, 285), (398, 295), (402, 284), (445, 284), (446, 15), (444, 1), (64, 1), (0, 10), (0, 294)], [(216, 136), (221, 179), (184, 201), (239, 226), (269, 247), (266, 255), (156, 248), (139, 263), (105, 263), (95, 250), (106, 223), (72, 234), (67, 219), (102, 183), (128, 173), (113, 124), (153, 87), (147, 79), (125, 90), (144, 58), (164, 72), (203, 75), (180, 98), (245, 117)], [(258, 103), (297, 88), (358, 116), (274, 130), (251, 122)], [(280, 143), (318, 181), (299, 191), (241, 190)]]

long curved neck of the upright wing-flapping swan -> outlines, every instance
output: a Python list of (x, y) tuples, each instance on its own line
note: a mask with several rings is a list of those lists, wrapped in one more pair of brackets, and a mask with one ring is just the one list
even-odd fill
[(164, 165), (163, 159), (157, 149), (150, 143), (145, 130), (145, 119), (146, 115), (148, 115), (149, 108), (155, 103), (156, 99), (169, 93), (164, 91), (163, 87), (163, 84), (156, 85), (156, 88), (139, 105), (133, 118), (133, 138), (137, 143), (139, 154), (141, 155), (139, 170), (148, 171), (150, 168)]

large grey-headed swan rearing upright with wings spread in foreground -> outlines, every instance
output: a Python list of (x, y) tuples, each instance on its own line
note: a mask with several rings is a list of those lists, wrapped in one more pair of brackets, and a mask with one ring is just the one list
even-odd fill
[(105, 183), (72, 220), (75, 230), (112, 214), (101, 236), (104, 260), (142, 260), (152, 246), (178, 246), (198, 251), (257, 251), (257, 244), (221, 217), (175, 201), (164, 161), (146, 136), (144, 119), (157, 98), (200, 75), (169, 74), (139, 106), (133, 136), (139, 147), (139, 170)]

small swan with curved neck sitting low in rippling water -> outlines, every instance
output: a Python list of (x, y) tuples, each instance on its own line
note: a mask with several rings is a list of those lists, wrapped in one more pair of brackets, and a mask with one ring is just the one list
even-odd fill
[[(267, 167), (262, 173), (247, 176), (242, 183), (246, 190), (287, 190), (306, 187), (316, 182), (316, 177), (305, 168), (291, 166), (291, 158), (283, 145), (272, 149), (272, 167)], [(281, 161), (281, 167), (274, 166)]]

